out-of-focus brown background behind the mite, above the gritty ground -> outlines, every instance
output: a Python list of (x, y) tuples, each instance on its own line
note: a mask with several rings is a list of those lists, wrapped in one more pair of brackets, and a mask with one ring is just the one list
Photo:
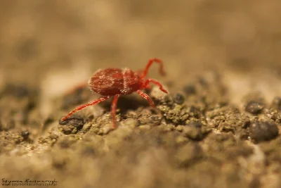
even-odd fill
[(70, 87), (98, 68), (138, 70), (151, 57), (180, 85), (204, 70), (280, 75), (280, 8), (278, 0), (0, 1), (0, 79)]

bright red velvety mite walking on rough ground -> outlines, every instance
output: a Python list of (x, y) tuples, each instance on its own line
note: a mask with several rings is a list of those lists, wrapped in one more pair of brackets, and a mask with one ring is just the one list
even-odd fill
[(141, 89), (145, 89), (149, 87), (150, 82), (153, 84), (157, 84), (159, 86), (159, 89), (164, 92), (168, 93), (166, 89), (163, 88), (162, 84), (158, 82), (157, 80), (148, 78), (145, 79), (145, 76), (148, 74), (148, 69), (152, 65), (152, 63), (159, 63), (160, 65), (160, 73), (161, 75), (165, 75), (163, 70), (163, 62), (159, 58), (151, 58), (148, 61), (148, 65), (146, 65), (145, 70), (143, 70), (142, 73), (134, 73), (133, 70), (129, 68), (106, 68), (103, 70), (98, 70), (96, 73), (93, 74), (91, 79), (89, 80), (89, 88), (92, 92), (101, 94), (103, 97), (100, 99), (90, 101), (87, 104), (82, 104), (80, 106), (77, 106), (77, 108), (74, 108), (73, 111), (68, 113), (65, 117), (63, 117), (61, 120), (66, 120), (67, 118), (72, 115), (72, 113), (75, 113), (77, 111), (80, 111), (83, 108), (86, 108), (87, 106), (92, 106), (95, 104), (98, 104), (102, 101), (105, 101), (106, 99), (109, 99), (110, 97), (114, 97), (111, 105), (111, 113), (112, 113), (112, 121), (113, 121), (113, 128), (115, 128), (115, 113), (116, 113), (116, 106), (117, 106), (117, 100), (120, 95), (122, 94), (131, 94), (133, 92), (137, 92), (139, 95), (143, 96), (148, 102), (150, 103), (150, 106), (155, 107), (153, 101), (150, 99), (150, 97), (141, 92)]

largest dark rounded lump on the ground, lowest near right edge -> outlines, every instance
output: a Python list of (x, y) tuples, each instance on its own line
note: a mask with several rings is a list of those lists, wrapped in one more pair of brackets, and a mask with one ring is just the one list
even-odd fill
[(277, 137), (278, 128), (275, 123), (255, 121), (251, 123), (249, 133), (254, 142), (262, 142)]

